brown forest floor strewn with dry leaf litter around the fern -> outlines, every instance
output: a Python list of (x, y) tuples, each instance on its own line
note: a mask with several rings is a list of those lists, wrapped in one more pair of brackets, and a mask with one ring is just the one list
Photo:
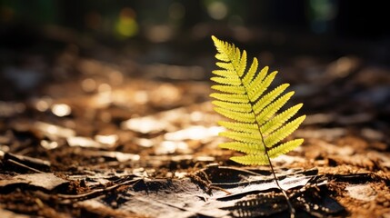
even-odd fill
[[(217, 147), (214, 52), (202, 67), (59, 51), (3, 68), (1, 217), (289, 217), (269, 167)], [(291, 136), (305, 144), (273, 160), (296, 216), (390, 217), (390, 68), (350, 55), (273, 65), (307, 114)]]

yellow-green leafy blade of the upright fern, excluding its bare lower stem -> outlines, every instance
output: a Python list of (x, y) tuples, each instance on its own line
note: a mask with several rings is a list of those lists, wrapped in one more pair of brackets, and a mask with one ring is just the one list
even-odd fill
[(232, 140), (219, 146), (245, 153), (231, 160), (266, 165), (270, 163), (269, 158), (286, 154), (303, 144), (303, 139), (285, 141), (305, 120), (305, 115), (291, 120), (303, 104), (280, 112), (294, 94), (283, 94), (289, 84), (269, 90), (277, 72), (268, 73), (267, 66), (258, 72), (256, 58), (247, 66), (245, 50), (241, 52), (214, 35), (212, 39), (218, 51), (216, 65), (220, 69), (213, 71), (215, 76), (211, 80), (216, 84), (212, 89), (217, 92), (210, 96), (215, 98), (212, 102), (215, 111), (230, 119), (218, 122), (227, 129), (220, 135)]

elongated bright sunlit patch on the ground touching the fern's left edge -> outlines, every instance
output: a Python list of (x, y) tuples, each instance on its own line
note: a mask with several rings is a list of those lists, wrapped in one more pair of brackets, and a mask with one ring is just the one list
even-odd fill
[(201, 140), (217, 136), (223, 130), (223, 127), (218, 126), (207, 128), (202, 125), (195, 125), (183, 130), (176, 131), (174, 133), (167, 133), (164, 135), (164, 137), (166, 140), (172, 141)]

